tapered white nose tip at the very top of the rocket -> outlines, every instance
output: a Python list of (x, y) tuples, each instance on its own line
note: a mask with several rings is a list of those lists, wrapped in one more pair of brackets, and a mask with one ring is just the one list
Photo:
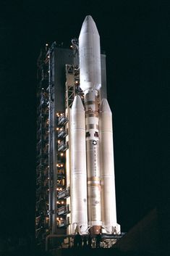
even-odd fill
[(80, 34), (81, 33), (98, 34), (98, 29), (95, 25), (95, 22), (94, 22), (93, 18), (90, 15), (85, 17), (85, 20), (82, 23), (82, 29), (80, 31)]

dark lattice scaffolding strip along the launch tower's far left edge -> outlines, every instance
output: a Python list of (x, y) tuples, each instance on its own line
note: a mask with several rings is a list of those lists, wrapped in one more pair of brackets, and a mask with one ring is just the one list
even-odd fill
[(37, 164), (35, 236), (40, 243), (48, 229), (48, 59), (46, 49), (38, 58)]

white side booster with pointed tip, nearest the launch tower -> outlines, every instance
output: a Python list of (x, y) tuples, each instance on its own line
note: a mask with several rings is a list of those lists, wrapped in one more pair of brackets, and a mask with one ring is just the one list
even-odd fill
[(72, 225), (81, 234), (88, 230), (85, 110), (80, 96), (72, 104)]

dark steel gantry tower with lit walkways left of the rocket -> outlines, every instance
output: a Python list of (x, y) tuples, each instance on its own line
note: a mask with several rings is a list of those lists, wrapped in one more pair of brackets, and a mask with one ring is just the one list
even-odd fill
[[(62, 95), (56, 90), (59, 83), (56, 82), (56, 69), (62, 69), (61, 64), (56, 67), (59, 59), (57, 54), (65, 54), (65, 58), (71, 62), (70, 53), (71, 50), (58, 49), (54, 42), (50, 48), (47, 49), (46, 46), (38, 58), (35, 216), (35, 237), (38, 244), (42, 244), (48, 234), (67, 234), (70, 223), (70, 182), (67, 176), (70, 171), (67, 164), (70, 128), (67, 110), (80, 90), (79, 70), (74, 65), (66, 65), (62, 75), (64, 82), (59, 88), (64, 88), (65, 83), (65, 95), (64, 102), (60, 105), (58, 102)], [(71, 84), (69, 78), (72, 79)]]

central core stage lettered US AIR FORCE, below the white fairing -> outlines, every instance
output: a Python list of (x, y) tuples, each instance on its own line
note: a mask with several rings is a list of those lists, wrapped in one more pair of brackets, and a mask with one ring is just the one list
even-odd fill
[(91, 233), (101, 229), (101, 172), (98, 138), (98, 91), (85, 94), (86, 156), (88, 173), (88, 225)]

